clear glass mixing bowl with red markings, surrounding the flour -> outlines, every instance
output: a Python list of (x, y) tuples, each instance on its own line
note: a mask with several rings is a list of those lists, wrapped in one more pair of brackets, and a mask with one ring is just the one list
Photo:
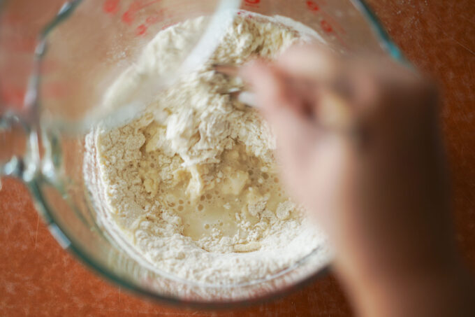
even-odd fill
[[(141, 265), (96, 221), (100, 206), (94, 204), (85, 180), (96, 175), (97, 166), (85, 162), (85, 123), (98, 118), (90, 113), (105, 88), (159, 30), (233, 6), (290, 17), (314, 29), (334, 50), (390, 55), (403, 61), (363, 1), (73, 0), (38, 38), (23, 108), (7, 110), (8, 100), (1, 101), (0, 175), (22, 178), (63, 248), (120, 286), (156, 300), (229, 307), (282, 295), (328, 267), (314, 252), (268, 279), (231, 286), (191, 283)], [(8, 5), (2, 15), (6, 13)], [(208, 29), (219, 29), (219, 20), (214, 23), (218, 24)], [(206, 36), (205, 31), (201, 39)], [(199, 47), (198, 41), (191, 43), (184, 58)], [(8, 52), (2, 54), (5, 64)], [(2, 80), (8, 80), (4, 75)]]

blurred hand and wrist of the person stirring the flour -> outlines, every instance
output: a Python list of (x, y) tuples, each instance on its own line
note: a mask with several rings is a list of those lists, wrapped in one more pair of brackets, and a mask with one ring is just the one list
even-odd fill
[(375, 307), (403, 304), (418, 314), (428, 285), (457, 284), (430, 80), (384, 57), (336, 57), (314, 45), (250, 62), (242, 77), (277, 136), (288, 191), (328, 233), (360, 311), (389, 316)]

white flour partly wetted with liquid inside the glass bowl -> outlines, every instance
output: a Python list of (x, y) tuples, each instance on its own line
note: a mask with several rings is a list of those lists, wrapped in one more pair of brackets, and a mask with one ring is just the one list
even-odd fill
[[(104, 104), (133, 99), (203, 27), (200, 17), (157, 34)], [(120, 232), (157, 269), (203, 283), (264, 279), (317, 247), (328, 257), (326, 238), (280, 189), (268, 125), (226, 94), (241, 83), (211, 67), (272, 58), (302, 37), (261, 16), (238, 17), (210, 61), (158, 92), (140, 118), (98, 127), (106, 229)]]

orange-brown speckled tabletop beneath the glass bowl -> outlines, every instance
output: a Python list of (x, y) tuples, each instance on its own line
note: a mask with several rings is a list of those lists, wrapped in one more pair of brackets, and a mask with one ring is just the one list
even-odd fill
[[(475, 268), (475, 3), (368, 2), (407, 57), (438, 78), (444, 91), (457, 237)], [(351, 316), (333, 276), (281, 300), (237, 311), (187, 311), (141, 300), (63, 251), (18, 181), (3, 183), (0, 225), (0, 316)]]

